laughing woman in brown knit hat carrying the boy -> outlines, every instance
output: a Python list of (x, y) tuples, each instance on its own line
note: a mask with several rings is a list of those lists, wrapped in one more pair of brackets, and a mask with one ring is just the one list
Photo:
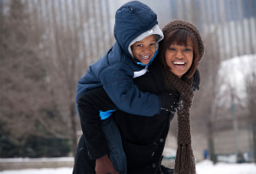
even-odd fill
[[(178, 149), (175, 172), (194, 174), (195, 161), (191, 149), (189, 108), (192, 104), (193, 90), (198, 89), (199, 74), (196, 68), (204, 53), (204, 45), (197, 28), (183, 20), (168, 23), (163, 28), (163, 32), (165, 38), (160, 43), (160, 54), (148, 68), (148, 73), (135, 78), (134, 81), (140, 90), (150, 91), (156, 95), (164, 91), (168, 91), (169, 94), (180, 94), (177, 108)], [(84, 100), (96, 99), (97, 97), (92, 96), (97, 95), (101, 96), (101, 100), (106, 98), (106, 94), (99, 91), (95, 90), (95, 93), (91, 91)], [(109, 106), (105, 107), (113, 109), (112, 105), (113, 103), (109, 102)], [(160, 162), (173, 115), (174, 113), (166, 112), (148, 118), (119, 110), (114, 113), (127, 157), (128, 173), (172, 172), (162, 167)], [(76, 155), (74, 173), (95, 172), (95, 167), (99, 173), (114, 171), (108, 156), (104, 155), (103, 162), (96, 165), (96, 160), (91, 160), (86, 152), (82, 137)], [(186, 152), (188, 154), (185, 154)]]

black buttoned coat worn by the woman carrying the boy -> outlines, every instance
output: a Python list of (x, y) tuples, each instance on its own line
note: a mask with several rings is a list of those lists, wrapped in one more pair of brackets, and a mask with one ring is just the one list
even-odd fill
[[(134, 78), (134, 82), (137, 84), (140, 90), (150, 91), (156, 95), (163, 93), (165, 91), (165, 83), (160, 62), (155, 60), (153, 65), (148, 68), (148, 73), (139, 78)], [(106, 101), (106, 108), (103, 109), (108, 110), (116, 108), (114, 106), (111, 107), (113, 102), (111, 102), (110, 99), (108, 99), (109, 101), (107, 100), (108, 95), (106, 93), (105, 95), (107, 96), (104, 96), (104, 92), (100, 92), (99, 89), (95, 90), (95, 94), (93, 94), (93, 92), (94, 90), (90, 90), (90, 97), (83, 96), (81, 100), (79, 100), (79, 104), (81, 106), (80, 108), (85, 109), (84, 103), (86, 101), (88, 103), (88, 100), (95, 100), (96, 97), (93, 96), (97, 96), (100, 93), (101, 97), (98, 98), (96, 103), (102, 103), (104, 98)], [(177, 101), (178, 95), (174, 102)], [(96, 108), (99, 109), (100, 106), (91, 105), (85, 109), (85, 112), (96, 110)], [(130, 113), (124, 113), (119, 110), (114, 113), (114, 119), (119, 127), (127, 157), (128, 173), (156, 173), (160, 167), (161, 156), (165, 146), (166, 136), (169, 131), (170, 121), (172, 120), (173, 115), (174, 113), (168, 112), (166, 114), (154, 115), (153, 117), (144, 117), (131, 115)], [(99, 137), (102, 134), (100, 127), (98, 130), (95, 130), (95, 125), (98, 121), (99, 120), (96, 120), (96, 118), (87, 118), (84, 119), (84, 121), (83, 118), (81, 118), (81, 126), (82, 129), (84, 129), (83, 131), (86, 132), (86, 129), (88, 129), (88, 127), (86, 127), (84, 124), (90, 122), (90, 125), (94, 125), (90, 128), (94, 130), (95, 133), (97, 132), (95, 136)], [(90, 131), (93, 132), (92, 130)], [(90, 171), (94, 171), (95, 159), (90, 160), (85, 142), (84, 136), (82, 136), (79, 142), (78, 154), (76, 155), (74, 173), (90, 173)], [(102, 138), (96, 138), (96, 142), (91, 144), (94, 145), (90, 147), (89, 154), (91, 156), (94, 156), (94, 154), (91, 153), (103, 153), (97, 155), (104, 155), (104, 153), (106, 153), (106, 151), (102, 151), (102, 148), (105, 146), (103, 134)], [(107, 147), (105, 148), (107, 150)], [(86, 172), (83, 171), (83, 169), (85, 169), (84, 167), (86, 168)]]

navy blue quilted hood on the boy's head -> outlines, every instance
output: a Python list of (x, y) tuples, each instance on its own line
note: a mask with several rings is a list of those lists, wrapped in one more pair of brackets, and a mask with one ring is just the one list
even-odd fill
[(115, 14), (114, 38), (125, 54), (130, 55), (128, 48), (131, 41), (157, 23), (157, 15), (144, 3), (125, 3)]

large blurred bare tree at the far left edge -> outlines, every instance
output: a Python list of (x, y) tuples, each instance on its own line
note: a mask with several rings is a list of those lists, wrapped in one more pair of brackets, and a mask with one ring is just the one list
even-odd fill
[(27, 4), (9, 1), (1, 14), (0, 118), (22, 146), (31, 135), (64, 137), (61, 118), (50, 94), (46, 69), (40, 59), (43, 32), (34, 30)]

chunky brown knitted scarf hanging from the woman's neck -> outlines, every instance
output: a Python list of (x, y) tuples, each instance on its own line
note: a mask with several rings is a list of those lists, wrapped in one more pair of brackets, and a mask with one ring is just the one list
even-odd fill
[(179, 92), (177, 107), (177, 154), (175, 159), (175, 174), (195, 174), (195, 157), (191, 148), (191, 132), (189, 109), (192, 105), (194, 92), (191, 88), (192, 78), (181, 79), (170, 70), (165, 69), (166, 90)]

